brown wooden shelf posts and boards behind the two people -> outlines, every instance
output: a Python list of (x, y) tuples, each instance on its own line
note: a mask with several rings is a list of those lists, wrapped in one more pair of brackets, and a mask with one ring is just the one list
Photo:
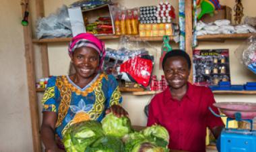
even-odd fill
[[(29, 3), (30, 0), (24, 0), (25, 3)], [(186, 16), (186, 46), (185, 50), (192, 58), (192, 4), (191, 1), (185, 1), (185, 16)], [(36, 17), (44, 17), (44, 1), (35, 0), (36, 7)], [(22, 5), (22, 13), (25, 11), (25, 6)], [(31, 20), (31, 18), (29, 19)], [(243, 34), (218, 34), (218, 35), (201, 35), (197, 39), (199, 41), (207, 40), (232, 40), (232, 39), (245, 39), (251, 35), (256, 35), (256, 33), (243, 33)], [(119, 35), (100, 35), (98, 36), (100, 40), (117, 40)], [(139, 37), (138, 35), (130, 36), (133, 41), (147, 41), (147, 42), (162, 42), (162, 37)], [(40, 127), (39, 127), (39, 117), (38, 117), (38, 101), (36, 92), (44, 92), (44, 89), (35, 88), (35, 58), (34, 58), (34, 47), (33, 44), (40, 46), (40, 53), (42, 58), (42, 76), (49, 76), (49, 59), (48, 59), (48, 44), (59, 43), (59, 42), (69, 42), (71, 37), (66, 38), (52, 38), (52, 39), (42, 39), (36, 40), (32, 38), (32, 27), (31, 24), (24, 26), (24, 47), (26, 50), (26, 67), (27, 67), (27, 79), (28, 79), (28, 90), (29, 90), (29, 102), (30, 102), (30, 116), (32, 122), (32, 139), (33, 147), (35, 152), (41, 152), (41, 141), (40, 141)], [(173, 41), (174, 37), (170, 36), (170, 40)], [(189, 81), (192, 82), (192, 76), (189, 77)], [(121, 91), (125, 91), (122, 90)], [(133, 92), (133, 95), (150, 95), (156, 94), (158, 92), (148, 92), (140, 91)], [(214, 94), (256, 94), (256, 91), (214, 91)]]

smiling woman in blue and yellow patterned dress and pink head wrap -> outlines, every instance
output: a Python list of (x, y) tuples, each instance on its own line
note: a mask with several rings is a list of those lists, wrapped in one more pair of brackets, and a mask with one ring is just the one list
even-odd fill
[(49, 79), (42, 98), (42, 142), (47, 152), (64, 151), (61, 139), (67, 128), (88, 120), (101, 121), (108, 112), (117, 117), (128, 113), (117, 81), (102, 72), (104, 43), (90, 33), (80, 33), (69, 44), (69, 56), (75, 68), (70, 76)]

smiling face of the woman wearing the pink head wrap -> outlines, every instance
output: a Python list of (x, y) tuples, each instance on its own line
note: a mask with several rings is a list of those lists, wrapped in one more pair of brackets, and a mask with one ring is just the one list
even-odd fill
[(76, 48), (71, 54), (71, 60), (76, 70), (76, 74), (82, 78), (94, 78), (98, 73), (99, 54), (89, 47)]

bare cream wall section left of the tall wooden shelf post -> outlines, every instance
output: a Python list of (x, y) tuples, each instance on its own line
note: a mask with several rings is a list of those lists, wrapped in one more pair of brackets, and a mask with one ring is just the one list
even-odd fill
[(1, 0), (0, 21), (0, 151), (33, 151), (20, 0)]

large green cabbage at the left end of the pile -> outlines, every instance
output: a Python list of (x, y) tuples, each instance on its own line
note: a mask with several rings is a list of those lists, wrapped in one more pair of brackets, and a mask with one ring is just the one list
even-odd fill
[(86, 147), (103, 136), (102, 125), (98, 121), (84, 121), (67, 129), (63, 144), (67, 152), (84, 152)]

